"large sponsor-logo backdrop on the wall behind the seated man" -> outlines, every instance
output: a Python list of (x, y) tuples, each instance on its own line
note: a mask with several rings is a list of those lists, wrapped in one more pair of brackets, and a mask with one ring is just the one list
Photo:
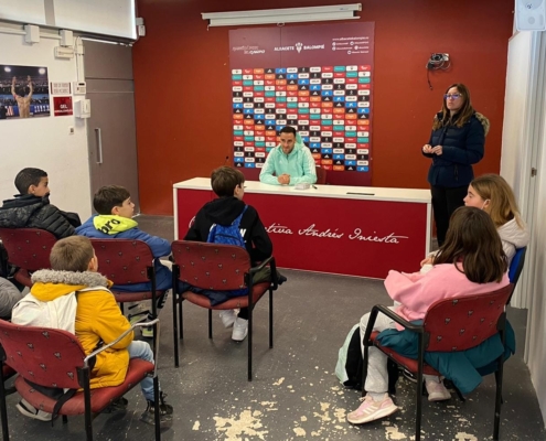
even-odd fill
[(234, 165), (257, 179), (285, 126), (331, 184), (371, 185), (374, 23), (229, 31)]

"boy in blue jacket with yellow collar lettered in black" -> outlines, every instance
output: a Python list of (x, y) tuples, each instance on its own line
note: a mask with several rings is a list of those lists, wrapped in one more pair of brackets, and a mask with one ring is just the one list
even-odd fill
[[(164, 291), (158, 298), (158, 310), (161, 310), (167, 301), (167, 290), (172, 288), (172, 272), (161, 263), (159, 258), (171, 254), (171, 244), (138, 228), (138, 223), (132, 219), (135, 204), (131, 202), (129, 191), (122, 186), (107, 185), (100, 187), (95, 193), (93, 206), (98, 214), (93, 215), (84, 225), (76, 228), (76, 234), (98, 239), (137, 239), (148, 244), (156, 258), (153, 262), (156, 289)], [(113, 289), (126, 292), (150, 291), (151, 282), (115, 284)], [(149, 314), (149, 319), (152, 319), (151, 314)], [(151, 330), (143, 330), (142, 335), (151, 337)]]

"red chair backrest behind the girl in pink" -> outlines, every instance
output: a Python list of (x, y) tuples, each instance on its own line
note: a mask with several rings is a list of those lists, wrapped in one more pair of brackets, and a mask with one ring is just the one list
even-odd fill
[(497, 323), (512, 283), (493, 292), (435, 302), (425, 315), (427, 351), (456, 352), (474, 347), (499, 332)]

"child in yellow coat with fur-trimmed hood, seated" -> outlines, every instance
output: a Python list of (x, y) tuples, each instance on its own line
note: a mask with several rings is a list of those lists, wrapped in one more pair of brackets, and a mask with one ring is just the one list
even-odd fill
[[(28, 326), (56, 327), (76, 334), (85, 354), (88, 355), (101, 345), (114, 342), (130, 329), (108, 288), (111, 286), (97, 272), (98, 261), (90, 240), (72, 236), (58, 240), (51, 250), (51, 270), (39, 270), (32, 275), (31, 292), (23, 298), (12, 312), (14, 324)], [(76, 291), (77, 304), (68, 294)], [(73, 298), (72, 298), (73, 299)], [(45, 323), (50, 314), (30, 303), (55, 302), (56, 323)], [(75, 309), (75, 311), (74, 311)], [(53, 316), (53, 314), (52, 314)], [(111, 348), (97, 355), (92, 370), (90, 388), (118, 386), (124, 383), (130, 358), (141, 358), (153, 363), (153, 353), (147, 342), (133, 341), (133, 333), (127, 334)], [(141, 416), (143, 422), (154, 424), (154, 407), (160, 406), (161, 421), (172, 419), (172, 406), (164, 402), (163, 392), (153, 396), (153, 378), (140, 381), (142, 394), (148, 402)], [(127, 407), (125, 398), (117, 402), (118, 408)], [(28, 417), (42, 421), (51, 420), (51, 415), (35, 409), (26, 400), (17, 408)]]

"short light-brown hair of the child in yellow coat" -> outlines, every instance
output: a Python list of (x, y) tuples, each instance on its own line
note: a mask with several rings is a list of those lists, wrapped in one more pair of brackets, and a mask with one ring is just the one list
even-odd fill
[(90, 240), (85, 236), (69, 236), (57, 240), (50, 254), (51, 268), (57, 271), (87, 271), (95, 256)]

